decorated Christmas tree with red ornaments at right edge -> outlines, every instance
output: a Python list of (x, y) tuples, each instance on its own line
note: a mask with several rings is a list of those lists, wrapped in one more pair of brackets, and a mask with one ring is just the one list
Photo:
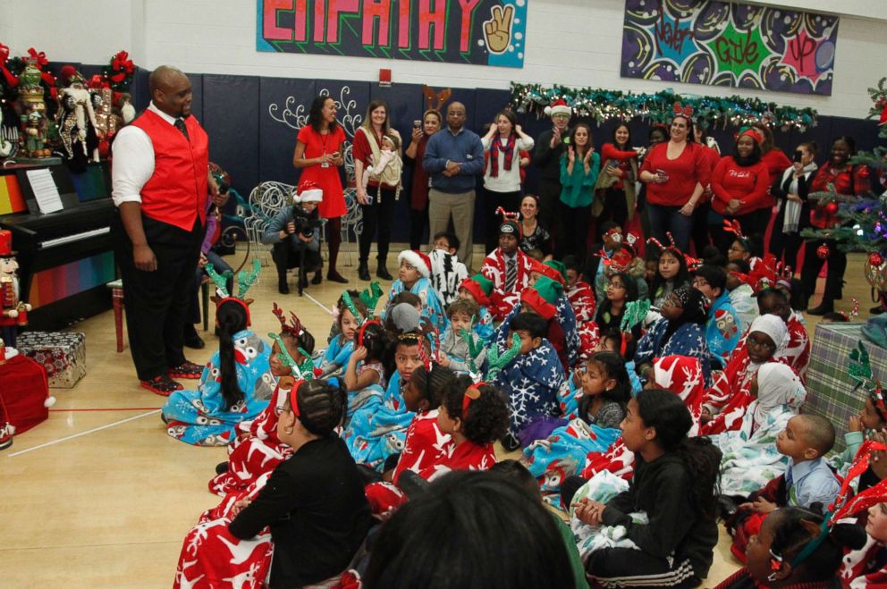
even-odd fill
[[(887, 78), (882, 78), (877, 88), (868, 88), (872, 107), (867, 118), (878, 118), (878, 137), (882, 139), (887, 139), (885, 84)], [(867, 252), (866, 281), (878, 290), (882, 305), (887, 308), (887, 192), (883, 190), (883, 184), (887, 184), (887, 148), (875, 147), (872, 152), (859, 152), (850, 162), (867, 165), (874, 172), (874, 193), (865, 197), (848, 197), (838, 194), (831, 184), (828, 191), (810, 193), (808, 198), (819, 201), (828, 213), (837, 213), (841, 223), (830, 229), (805, 229), (801, 231), (801, 236), (807, 240), (835, 240), (841, 251)], [(816, 255), (828, 257), (828, 251), (817, 251)]]

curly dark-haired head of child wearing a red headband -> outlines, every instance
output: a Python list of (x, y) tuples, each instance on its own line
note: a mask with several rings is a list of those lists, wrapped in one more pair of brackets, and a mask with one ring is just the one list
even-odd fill
[(462, 434), (476, 444), (493, 443), (508, 431), (508, 405), (502, 391), (491, 384), (457, 376), (444, 388), (441, 405), (451, 419), (462, 422)]

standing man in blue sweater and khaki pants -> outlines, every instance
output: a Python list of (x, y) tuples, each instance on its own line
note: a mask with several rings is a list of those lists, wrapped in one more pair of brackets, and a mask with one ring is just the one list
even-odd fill
[(471, 273), (475, 179), (484, 172), (484, 146), (477, 133), (464, 128), (465, 105), (449, 105), (446, 123), (446, 129), (428, 139), (422, 159), (422, 166), (431, 176), (428, 231), (430, 235), (447, 231), (452, 215), (453, 229), (460, 241), (458, 257)]

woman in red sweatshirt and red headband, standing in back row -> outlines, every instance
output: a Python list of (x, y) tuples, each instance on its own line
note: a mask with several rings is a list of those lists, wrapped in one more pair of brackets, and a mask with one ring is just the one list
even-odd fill
[[(760, 131), (747, 127), (739, 130), (732, 156), (724, 156), (712, 174), (712, 208), (724, 219), (739, 221), (746, 235), (764, 233), (773, 201), (770, 197), (770, 172), (761, 161)], [(714, 245), (727, 251), (735, 239), (732, 233), (712, 227)]]

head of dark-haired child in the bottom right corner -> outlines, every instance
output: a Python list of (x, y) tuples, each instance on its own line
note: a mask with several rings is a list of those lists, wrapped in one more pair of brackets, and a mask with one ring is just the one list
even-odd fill
[[(841, 568), (845, 547), (859, 550), (866, 543), (866, 533), (862, 527), (836, 524), (831, 529), (823, 529), (823, 516), (809, 509), (785, 507), (774, 511), (767, 519), (770, 517), (775, 520), (771, 524), (771, 567), (775, 572), (783, 562), (790, 562), (793, 569), (791, 575), (798, 582), (831, 580)], [(818, 534), (811, 534), (813, 526), (818, 528)], [(817, 542), (818, 546), (808, 548), (811, 543)], [(807, 552), (811, 548), (812, 551)], [(802, 554), (804, 552), (807, 554)]]

